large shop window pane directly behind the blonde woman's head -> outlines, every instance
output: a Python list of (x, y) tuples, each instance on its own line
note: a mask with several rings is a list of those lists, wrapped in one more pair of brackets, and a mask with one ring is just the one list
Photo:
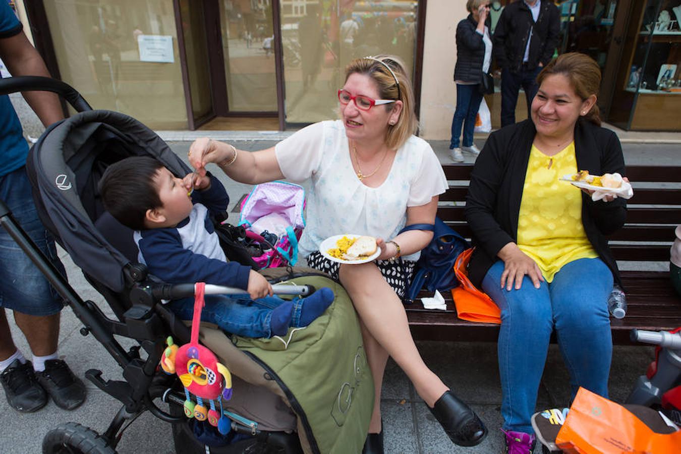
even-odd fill
[(395, 54), (412, 71), (417, 1), (280, 1), (287, 123), (336, 118), (354, 58)]

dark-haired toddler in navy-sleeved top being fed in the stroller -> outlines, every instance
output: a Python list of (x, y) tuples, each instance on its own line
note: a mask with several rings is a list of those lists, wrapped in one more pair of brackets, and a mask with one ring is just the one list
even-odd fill
[[(306, 298), (285, 301), (246, 265), (227, 262), (210, 216), (227, 210), (229, 197), (213, 176), (178, 178), (151, 157), (129, 157), (106, 169), (99, 182), (104, 207), (135, 230), (139, 261), (165, 282), (207, 282), (248, 291), (251, 297), (206, 296), (202, 321), (251, 338), (285, 335), (306, 327), (330, 306), (334, 293), (323, 287)], [(197, 191), (193, 191), (197, 189)], [(170, 303), (183, 320), (191, 319), (193, 299)]]

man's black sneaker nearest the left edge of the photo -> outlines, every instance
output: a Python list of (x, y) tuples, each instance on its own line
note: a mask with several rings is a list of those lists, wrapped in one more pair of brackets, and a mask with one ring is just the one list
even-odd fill
[(35, 379), (33, 364), (15, 359), (7, 369), (0, 374), (0, 382), (5, 389), (7, 402), (14, 410), (20, 412), (34, 412), (47, 404), (47, 393)]

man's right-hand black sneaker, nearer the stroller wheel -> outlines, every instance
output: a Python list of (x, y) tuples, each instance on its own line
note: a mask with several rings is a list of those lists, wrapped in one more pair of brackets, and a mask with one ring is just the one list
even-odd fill
[(60, 408), (73, 410), (85, 402), (85, 385), (63, 360), (48, 359), (45, 370), (35, 376)]

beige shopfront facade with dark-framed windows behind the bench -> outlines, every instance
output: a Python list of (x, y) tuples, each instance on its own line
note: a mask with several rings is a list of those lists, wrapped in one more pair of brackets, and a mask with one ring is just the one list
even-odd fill
[[(387, 53), (412, 71), (421, 135), (449, 138), (465, 0), (15, 3), (55, 76), (95, 108), (153, 129), (197, 129), (223, 117), (289, 129), (335, 118), (347, 62)], [(507, 3), (490, 3), (492, 26)], [(556, 4), (556, 52), (577, 50), (599, 62), (605, 118), (624, 129), (681, 130), (681, 0)], [(486, 102), (495, 127), (499, 93)], [(522, 96), (518, 106), (522, 119)]]

